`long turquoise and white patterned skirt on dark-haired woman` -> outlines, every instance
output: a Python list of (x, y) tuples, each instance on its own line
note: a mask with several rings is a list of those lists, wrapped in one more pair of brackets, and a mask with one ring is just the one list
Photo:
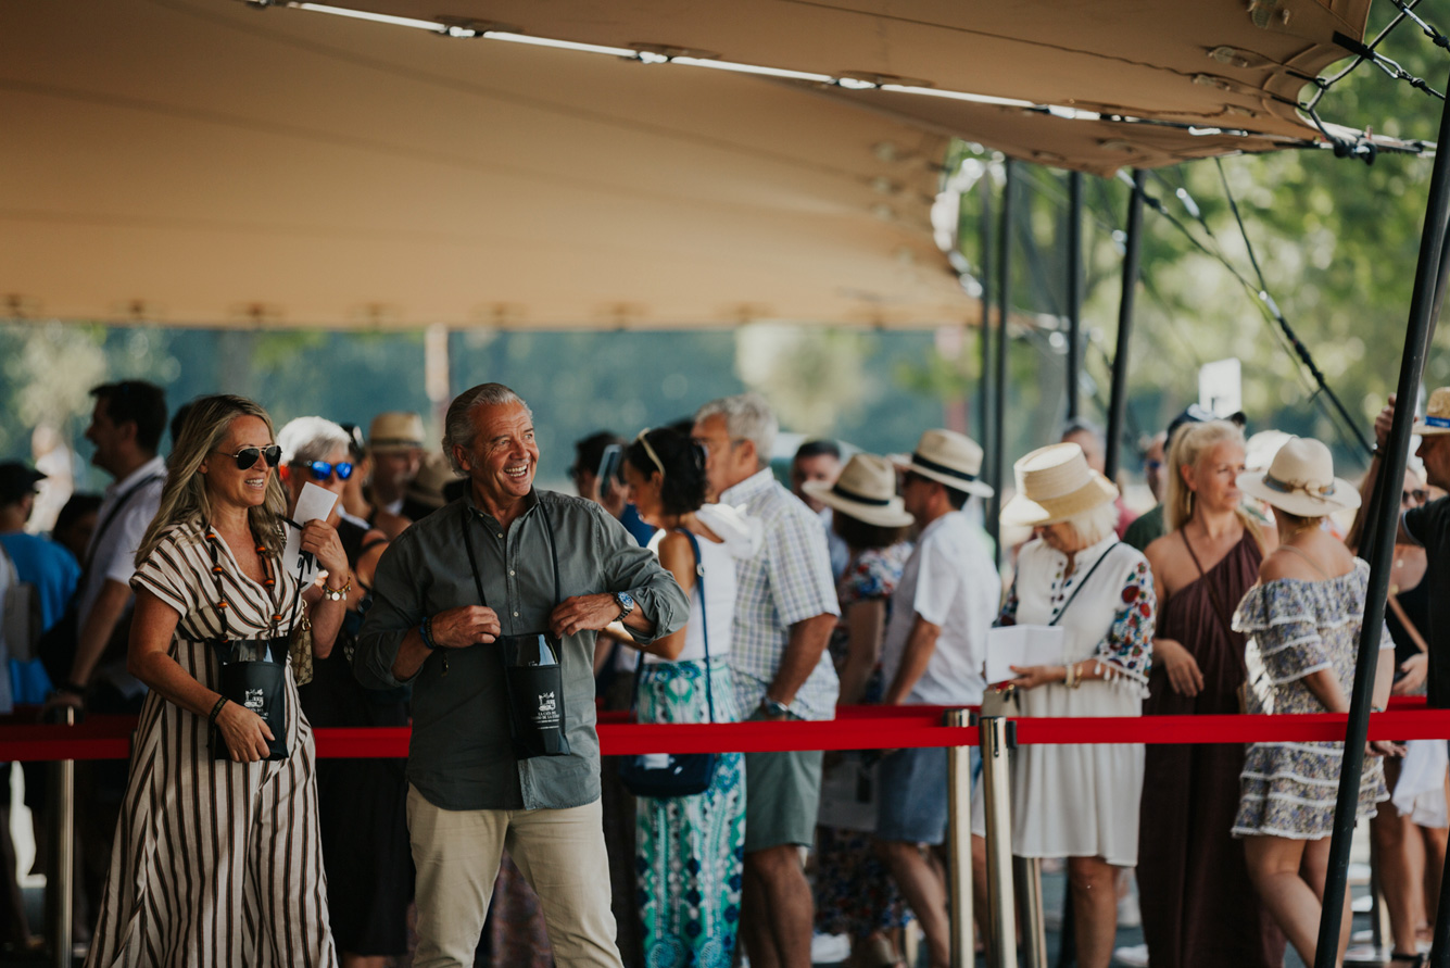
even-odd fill
[[(728, 662), (713, 660), (715, 721), (738, 723)], [(641, 723), (708, 723), (703, 662), (648, 663)], [(729, 968), (745, 862), (745, 758), (716, 756), (703, 794), (639, 798), (637, 865), (648, 968)]]

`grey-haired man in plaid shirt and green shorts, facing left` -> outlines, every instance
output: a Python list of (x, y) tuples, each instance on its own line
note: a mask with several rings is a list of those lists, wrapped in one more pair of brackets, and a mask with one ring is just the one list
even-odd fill
[[(735, 694), (754, 720), (829, 720), (840, 691), (825, 652), (840, 615), (835, 582), (819, 518), (770, 473), (776, 430), (755, 393), (695, 415), (710, 493), (745, 505), (766, 533), (760, 553), (735, 567)], [(747, 753), (745, 776), (745, 951), (757, 967), (806, 968), (813, 911), (799, 848), (815, 833), (821, 752)]]

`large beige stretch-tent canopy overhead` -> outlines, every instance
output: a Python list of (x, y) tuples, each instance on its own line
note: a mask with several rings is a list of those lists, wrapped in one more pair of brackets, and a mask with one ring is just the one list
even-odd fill
[[(950, 136), (1099, 174), (1302, 144), (1315, 138), (1293, 106), (1304, 78), (1344, 55), (1334, 33), (1360, 38), (1367, 12), (1367, 0), (338, 1), (463, 33), (825, 80), (236, 0), (6, 0), (3, 315), (973, 322), (977, 303), (929, 222)], [(841, 77), (851, 89), (831, 83)]]

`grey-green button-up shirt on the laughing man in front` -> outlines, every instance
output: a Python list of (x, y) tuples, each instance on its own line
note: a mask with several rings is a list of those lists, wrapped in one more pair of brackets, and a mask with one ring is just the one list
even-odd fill
[[(544, 515), (548, 515), (545, 522)], [(358, 637), (354, 672), (370, 688), (394, 688), (393, 660), (409, 630), (425, 615), (478, 605), (464, 536), (483, 576), (487, 605), (503, 634), (545, 631), (554, 601), (558, 549), (561, 598), (629, 592), (654, 620), (654, 634), (682, 628), (689, 604), (658, 559), (635, 544), (613, 517), (592, 501), (535, 491), (531, 506), (508, 530), (464, 498), (410, 525), (383, 553), (374, 602)], [(594, 636), (564, 640), (567, 756), (518, 759), (509, 739), (503, 659), (493, 644), (439, 649), (413, 676), (413, 739), (407, 779), (442, 810), (536, 810), (579, 807), (599, 797), (599, 734), (594, 731)], [(444, 672), (444, 655), (448, 672)]]

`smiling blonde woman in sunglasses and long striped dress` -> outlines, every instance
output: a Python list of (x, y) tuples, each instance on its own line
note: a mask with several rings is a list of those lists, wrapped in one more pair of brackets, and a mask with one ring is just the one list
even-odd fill
[[(289, 663), (294, 615), (325, 657), (342, 624), (347, 554), (312, 521), (302, 550), (331, 589), (297, 601), (283, 567), (280, 448), (267, 412), (197, 401), (168, 462), (161, 509), (136, 553), (129, 669), (151, 688), (87, 968), (335, 968), (318, 837), (312, 729)], [(336, 594), (341, 591), (341, 594)], [(304, 610), (304, 611), (302, 611)], [(270, 641), (268, 641), (270, 640)], [(218, 652), (284, 666), (286, 759), (267, 721), (228, 701)], [(226, 759), (213, 759), (223, 743)]]

